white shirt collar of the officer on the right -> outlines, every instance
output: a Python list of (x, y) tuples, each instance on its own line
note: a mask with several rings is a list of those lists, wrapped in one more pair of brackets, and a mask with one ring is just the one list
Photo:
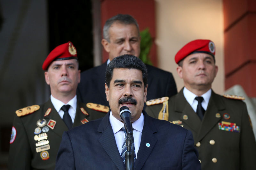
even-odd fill
[[(206, 93), (202, 95), (202, 97), (204, 98), (204, 100), (202, 101), (202, 107), (204, 108), (205, 111), (207, 109), (211, 94), (212, 94), (212, 89), (208, 90)], [(190, 92), (186, 87), (184, 87), (183, 95), (196, 113), (196, 107), (198, 104), (198, 101), (195, 99), (196, 94)]]

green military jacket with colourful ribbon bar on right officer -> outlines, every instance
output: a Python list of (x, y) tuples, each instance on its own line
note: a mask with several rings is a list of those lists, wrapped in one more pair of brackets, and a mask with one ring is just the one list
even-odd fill
[(183, 89), (169, 100), (152, 100), (148, 105), (148, 115), (165, 116), (193, 133), (203, 170), (255, 169), (256, 143), (243, 101), (212, 91), (202, 121), (185, 99)]

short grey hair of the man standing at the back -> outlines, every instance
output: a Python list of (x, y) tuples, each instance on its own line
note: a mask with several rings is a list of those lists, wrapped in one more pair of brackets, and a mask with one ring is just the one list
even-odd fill
[(138, 29), (138, 35), (140, 35), (140, 29), (139, 29), (139, 25), (137, 23), (137, 21), (128, 14), (118, 14), (112, 18), (109, 18), (106, 22), (105, 25), (103, 27), (103, 38), (106, 39), (108, 42), (110, 41), (109, 39), (109, 28), (110, 26), (114, 23), (114, 22), (119, 22), (121, 24), (134, 24), (137, 29)]

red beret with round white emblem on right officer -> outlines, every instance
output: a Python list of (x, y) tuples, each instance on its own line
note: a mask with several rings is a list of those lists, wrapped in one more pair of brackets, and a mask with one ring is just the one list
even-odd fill
[(186, 56), (194, 53), (206, 53), (212, 55), (213, 59), (215, 55), (215, 45), (211, 40), (194, 40), (186, 44), (175, 55), (175, 62), (178, 64), (180, 60)]

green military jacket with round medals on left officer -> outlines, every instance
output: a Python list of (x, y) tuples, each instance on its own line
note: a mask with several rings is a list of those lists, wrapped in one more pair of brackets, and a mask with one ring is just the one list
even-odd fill
[[(98, 110), (98, 111), (96, 111)], [(109, 108), (77, 101), (73, 127), (103, 117)], [(16, 111), (10, 141), (8, 169), (55, 169), (62, 133), (68, 127), (48, 100)], [(82, 135), (82, 134), (81, 134)]]

